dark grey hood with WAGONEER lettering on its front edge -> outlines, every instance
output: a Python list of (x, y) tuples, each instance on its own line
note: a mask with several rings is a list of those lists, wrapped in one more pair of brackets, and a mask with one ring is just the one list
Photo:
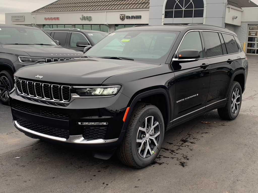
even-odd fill
[[(14, 54), (16, 54), (18, 50), (22, 50), (31, 57), (80, 57), (83, 55), (83, 52), (62, 48), (60, 46), (2, 45), (2, 47), (9, 50), (9, 53)], [(25, 56), (27, 56), (27, 54)]]

